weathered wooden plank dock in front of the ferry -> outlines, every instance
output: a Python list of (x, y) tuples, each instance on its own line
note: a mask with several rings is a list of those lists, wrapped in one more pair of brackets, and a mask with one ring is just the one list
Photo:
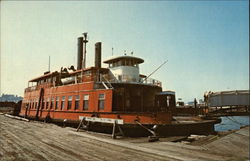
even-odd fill
[[(172, 140), (173, 137), (172, 137)], [(176, 140), (176, 139), (175, 139)], [(194, 142), (110, 135), (0, 115), (0, 160), (249, 160), (249, 126)]]

